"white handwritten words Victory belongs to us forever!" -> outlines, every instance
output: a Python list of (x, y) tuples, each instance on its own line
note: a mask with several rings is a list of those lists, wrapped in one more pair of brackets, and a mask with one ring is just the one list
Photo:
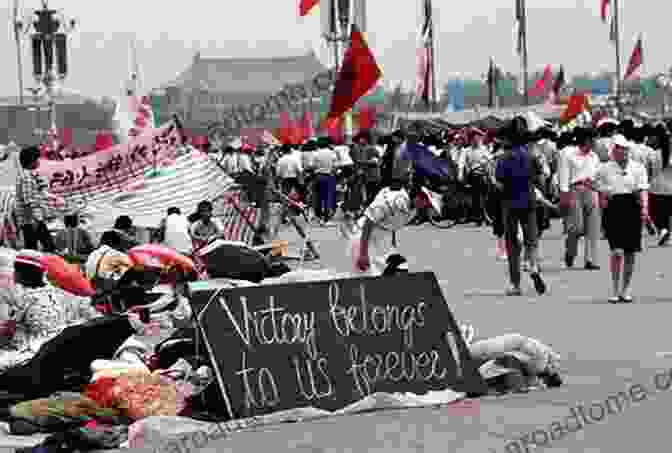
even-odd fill
[[(304, 401), (336, 398), (337, 385), (346, 385), (342, 382), (345, 376), (349, 376), (349, 394), (354, 388), (359, 397), (371, 394), (379, 383), (438, 382), (446, 378), (448, 371), (442, 365), (439, 351), (431, 346), (417, 347), (417, 331), (425, 328), (429, 311), (424, 300), (406, 305), (371, 304), (364, 282), (357, 287), (356, 299), (352, 296), (353, 293), (349, 294), (349, 303), (346, 304), (339, 284), (330, 283), (328, 303), (324, 305), (324, 301), (320, 301), (322, 304), (315, 301), (314, 304), (324, 309), (303, 312), (281, 306), (277, 295), (266, 296), (261, 307), (247, 296), (235, 299), (218, 297), (218, 305), (224, 311), (226, 320), (244, 345), (239, 357), (240, 368), (235, 375), (241, 379), (248, 410), (280, 405), (281, 389), (287, 386), (276, 377), (280, 373), (287, 379), (287, 374), (274, 370), (273, 365), (251, 365), (251, 362), (259, 363), (259, 360), (251, 360), (250, 357), (262, 353), (264, 347), (271, 345), (303, 347), (305, 354), (296, 354), (295, 351), (291, 354), (292, 374), (296, 382), (290, 385), (292, 392), (298, 393), (295, 397)], [(251, 308), (252, 305), (254, 308)], [(326, 318), (328, 321), (325, 322)], [(379, 341), (375, 350), (371, 351), (366, 339), (374, 337), (398, 338), (398, 341)], [(335, 344), (345, 344), (347, 352), (336, 348)], [(453, 359), (459, 363), (459, 357)], [(285, 362), (279, 363), (286, 366)], [(330, 365), (337, 369), (330, 369)]]

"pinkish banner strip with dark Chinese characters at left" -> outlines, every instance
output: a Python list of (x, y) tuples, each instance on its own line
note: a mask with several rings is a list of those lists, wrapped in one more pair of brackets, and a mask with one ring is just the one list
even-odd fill
[(180, 140), (171, 122), (79, 159), (41, 160), (38, 172), (56, 195), (123, 188), (141, 179), (146, 170), (174, 160)]

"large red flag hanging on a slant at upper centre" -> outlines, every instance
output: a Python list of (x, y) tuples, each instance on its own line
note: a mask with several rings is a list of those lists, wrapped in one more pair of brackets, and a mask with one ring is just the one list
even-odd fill
[(382, 76), (364, 36), (352, 26), (350, 47), (345, 52), (343, 65), (336, 78), (331, 109), (327, 118), (340, 118), (373, 88)]

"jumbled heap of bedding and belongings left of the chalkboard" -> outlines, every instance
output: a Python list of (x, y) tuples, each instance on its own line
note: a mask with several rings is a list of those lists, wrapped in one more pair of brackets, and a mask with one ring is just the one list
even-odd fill
[[(14, 284), (0, 288), (0, 421), (9, 434), (54, 433), (47, 451), (116, 448), (130, 423), (183, 414), (212, 379), (208, 368), (184, 361), (156, 366), (151, 345), (192, 314), (179, 284), (157, 287), (165, 266), (138, 265), (141, 252), (148, 250), (102, 250), (92, 260), (94, 285), (60, 257), (15, 254)], [(92, 297), (75, 294), (91, 286)], [(100, 303), (108, 287), (116, 291), (112, 310)]]

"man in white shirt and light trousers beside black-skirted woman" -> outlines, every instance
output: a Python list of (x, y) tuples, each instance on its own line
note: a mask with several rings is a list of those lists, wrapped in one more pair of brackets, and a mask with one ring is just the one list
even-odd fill
[(599, 197), (593, 188), (593, 181), (600, 159), (593, 151), (592, 131), (577, 128), (575, 134), (577, 146), (563, 149), (558, 161), (560, 206), (567, 212), (565, 264), (567, 267), (574, 265), (579, 238), (584, 236), (585, 268), (597, 270), (600, 268), (597, 265), (597, 250), (601, 221)]

